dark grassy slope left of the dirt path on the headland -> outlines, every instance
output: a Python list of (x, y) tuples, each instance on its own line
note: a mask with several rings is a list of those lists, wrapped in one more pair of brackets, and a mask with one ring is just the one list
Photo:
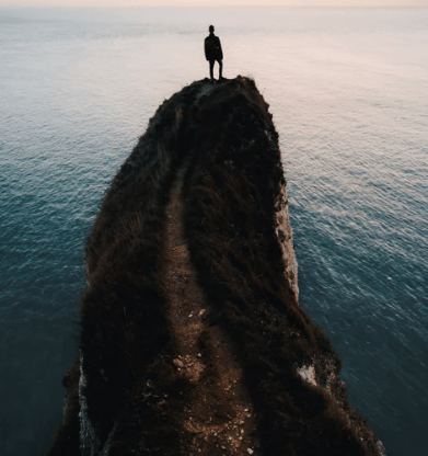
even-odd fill
[[(89, 286), (80, 303), (79, 350), (85, 376), (82, 388), (88, 403), (85, 421), (94, 429), (85, 431), (86, 440), (91, 441), (90, 434), (95, 434), (96, 442), (92, 444), (95, 453), (104, 445), (115, 420), (124, 414), (127, 418), (116, 421), (115, 433), (115, 445), (125, 447), (124, 454), (139, 452), (144, 445), (157, 447), (160, 437), (155, 430), (165, 438), (162, 454), (175, 454), (175, 425), (157, 407), (157, 401), (148, 400), (153, 392), (148, 380), (158, 380), (159, 387), (170, 392), (171, 402), (175, 398), (180, 404), (181, 385), (175, 385), (170, 375), (172, 367), (162, 360), (162, 355), (171, 352), (172, 342), (164, 316), (159, 262), (164, 209), (182, 155), (178, 135), (182, 117), (177, 112), (183, 103), (186, 96), (175, 95), (151, 118), (147, 133), (105, 195), (86, 241)], [(68, 425), (76, 422), (80, 411), (73, 396), (77, 381), (79, 376), (76, 379), (74, 375), (74, 381), (65, 385), (69, 403), (66, 425), (58, 430), (49, 455), (80, 454), (79, 430)], [(134, 420), (135, 414), (138, 420)], [(136, 436), (136, 426), (148, 429), (150, 435), (141, 435), (146, 433), (142, 431)], [(86, 445), (86, 454), (90, 449)]]

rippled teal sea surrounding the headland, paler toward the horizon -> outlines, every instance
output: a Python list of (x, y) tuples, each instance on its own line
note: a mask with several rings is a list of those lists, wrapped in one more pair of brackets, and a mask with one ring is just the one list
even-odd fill
[(280, 134), (301, 305), (387, 453), (425, 456), (428, 9), (0, 9), (1, 454), (61, 420), (85, 237), (210, 23)]

